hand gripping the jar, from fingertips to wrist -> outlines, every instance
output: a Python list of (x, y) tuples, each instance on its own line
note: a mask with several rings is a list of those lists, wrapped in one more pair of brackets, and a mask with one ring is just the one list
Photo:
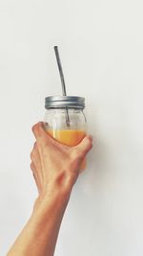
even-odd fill
[(31, 151), (31, 170), (39, 196), (56, 191), (71, 191), (86, 154), (92, 149), (92, 136), (87, 135), (74, 147), (55, 141), (44, 129), (43, 123), (32, 127), (35, 136)]

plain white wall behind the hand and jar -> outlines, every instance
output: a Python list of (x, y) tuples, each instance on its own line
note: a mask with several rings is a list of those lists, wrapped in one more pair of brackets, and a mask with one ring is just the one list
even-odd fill
[(142, 10), (141, 0), (0, 0), (0, 256), (37, 196), (31, 126), (61, 94), (54, 45), (94, 137), (55, 256), (143, 255)]

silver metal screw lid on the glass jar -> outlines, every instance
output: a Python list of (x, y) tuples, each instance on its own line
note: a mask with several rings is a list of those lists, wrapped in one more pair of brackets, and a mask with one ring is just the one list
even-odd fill
[(78, 96), (49, 96), (45, 98), (45, 107), (49, 108), (84, 108), (85, 98)]

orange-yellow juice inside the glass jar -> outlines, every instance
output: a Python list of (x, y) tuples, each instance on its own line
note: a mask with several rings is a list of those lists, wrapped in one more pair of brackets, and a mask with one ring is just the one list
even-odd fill
[[(48, 129), (47, 131), (56, 141), (70, 147), (78, 145), (86, 135), (86, 132), (80, 129)], [(86, 165), (86, 159), (84, 159), (80, 170), (86, 169)]]

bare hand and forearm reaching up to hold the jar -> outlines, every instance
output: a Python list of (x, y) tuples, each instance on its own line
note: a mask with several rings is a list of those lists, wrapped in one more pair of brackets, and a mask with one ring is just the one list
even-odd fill
[(53, 256), (79, 166), (92, 149), (90, 135), (77, 146), (68, 147), (52, 139), (42, 122), (34, 125), (32, 132), (36, 141), (31, 151), (31, 171), (38, 198), (30, 220), (7, 256)]

